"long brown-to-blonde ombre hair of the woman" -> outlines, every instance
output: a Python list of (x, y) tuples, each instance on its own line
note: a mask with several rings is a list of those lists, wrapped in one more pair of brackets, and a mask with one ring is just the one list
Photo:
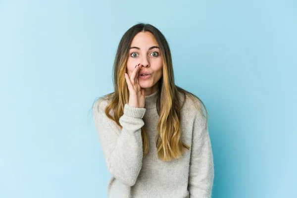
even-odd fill
[[(161, 50), (163, 64), (163, 75), (158, 81), (159, 92), (156, 102), (156, 108), (159, 115), (156, 136), (157, 155), (158, 158), (163, 161), (171, 161), (174, 158), (180, 158), (182, 156), (184, 147), (190, 149), (188, 145), (181, 142), (181, 108), (184, 105), (186, 96), (193, 99), (195, 104), (197, 104), (196, 106), (198, 110), (202, 112), (202, 114), (203, 111), (200, 103), (203, 104), (206, 112), (206, 124), (208, 113), (202, 100), (194, 94), (175, 85), (169, 45), (163, 34), (157, 28), (150, 24), (139, 23), (132, 26), (123, 35), (118, 45), (113, 64), (114, 92), (104, 95), (101, 98), (110, 101), (104, 110), (106, 116), (113, 120), (122, 129), (122, 126), (119, 123), (119, 118), (124, 113), (124, 105), (129, 102), (129, 89), (124, 77), (124, 73), (127, 73), (129, 48), (135, 35), (139, 32), (146, 31), (149, 31), (154, 35)], [(178, 97), (179, 93), (184, 96), (183, 104), (180, 103), (180, 98)], [(110, 115), (111, 110), (113, 110), (112, 116)], [(143, 141), (143, 156), (146, 156), (149, 150), (149, 143), (145, 127), (141, 128), (141, 135)]]

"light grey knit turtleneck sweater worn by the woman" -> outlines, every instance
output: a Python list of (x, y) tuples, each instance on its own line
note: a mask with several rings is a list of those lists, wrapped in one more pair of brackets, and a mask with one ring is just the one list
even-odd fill
[[(94, 103), (96, 131), (112, 175), (108, 181), (108, 198), (211, 198), (214, 165), (205, 116), (187, 97), (181, 109), (181, 141), (191, 148), (184, 148), (179, 159), (162, 161), (157, 158), (155, 142), (159, 119), (157, 92), (145, 96), (144, 108), (124, 105), (119, 118), (122, 129), (105, 115), (107, 99), (100, 98)], [(145, 157), (143, 126), (149, 138)]]

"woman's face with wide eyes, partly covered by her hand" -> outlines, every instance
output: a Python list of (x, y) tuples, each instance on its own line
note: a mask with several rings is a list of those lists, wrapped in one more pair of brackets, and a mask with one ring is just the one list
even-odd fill
[(145, 96), (153, 94), (158, 89), (157, 82), (163, 74), (161, 51), (157, 41), (150, 32), (138, 33), (131, 43), (127, 61), (127, 73), (131, 76), (135, 66), (140, 63), (139, 74), (148, 72), (151, 75), (148, 79), (138, 76), (141, 88), (145, 89)]

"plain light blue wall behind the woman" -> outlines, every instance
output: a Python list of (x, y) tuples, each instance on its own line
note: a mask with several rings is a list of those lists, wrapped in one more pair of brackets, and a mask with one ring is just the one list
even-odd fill
[(122, 35), (167, 38), (205, 103), (213, 198), (297, 195), (297, 1), (0, 1), (0, 198), (105, 198), (92, 104)]

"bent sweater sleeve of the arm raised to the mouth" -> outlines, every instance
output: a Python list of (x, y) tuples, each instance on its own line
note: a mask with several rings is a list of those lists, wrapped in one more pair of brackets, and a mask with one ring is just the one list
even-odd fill
[(123, 184), (134, 186), (142, 167), (141, 127), (146, 108), (125, 104), (119, 118), (122, 130), (104, 112), (106, 102), (96, 102), (93, 109), (99, 142), (109, 172)]

